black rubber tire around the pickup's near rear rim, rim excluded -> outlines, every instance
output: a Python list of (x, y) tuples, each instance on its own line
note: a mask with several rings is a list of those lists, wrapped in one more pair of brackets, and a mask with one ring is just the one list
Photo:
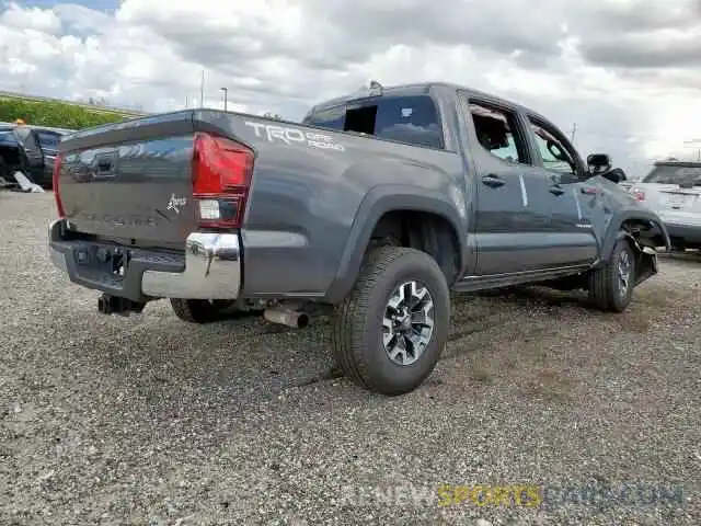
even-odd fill
[[(406, 282), (428, 290), (434, 323), (420, 357), (411, 365), (399, 365), (386, 351), (382, 320), (390, 296)], [(418, 250), (379, 247), (366, 256), (353, 291), (336, 309), (334, 355), (344, 375), (358, 386), (387, 396), (403, 395), (433, 373), (449, 328), (450, 290), (436, 261)]]

